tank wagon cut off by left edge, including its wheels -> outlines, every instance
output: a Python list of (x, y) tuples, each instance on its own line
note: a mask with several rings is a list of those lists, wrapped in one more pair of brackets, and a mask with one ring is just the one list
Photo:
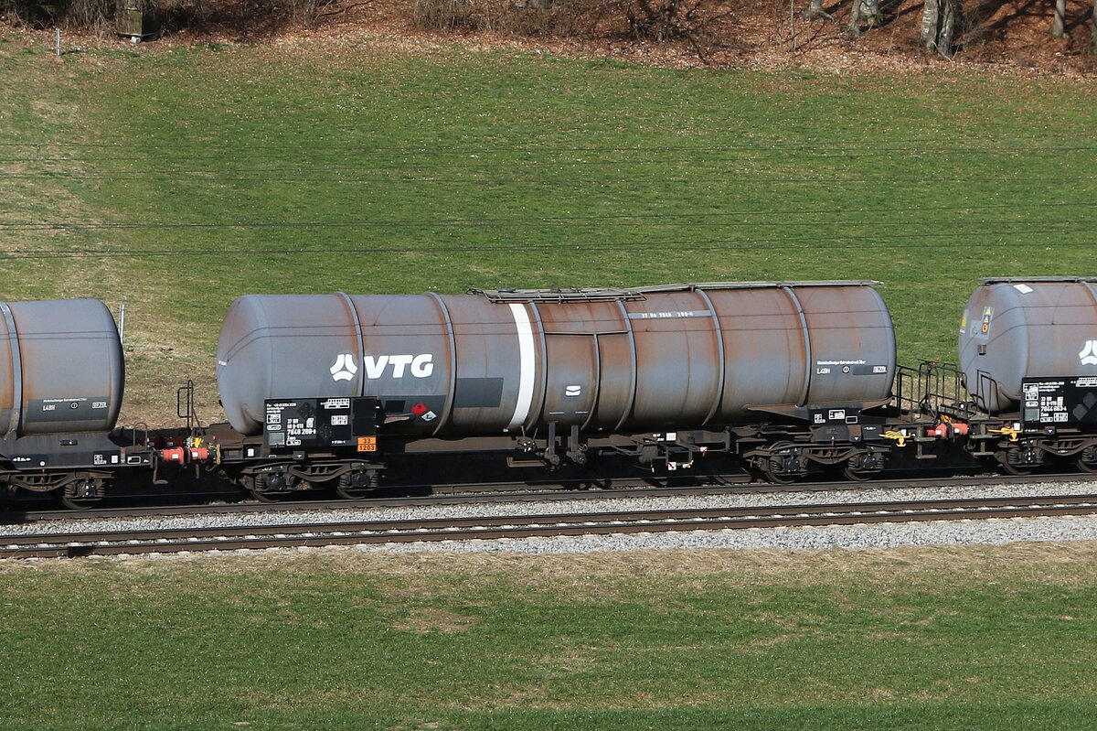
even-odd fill
[(115, 431), (122, 342), (98, 300), (0, 302), (0, 485), (58, 491), (70, 506), (105, 493), (151, 452)]

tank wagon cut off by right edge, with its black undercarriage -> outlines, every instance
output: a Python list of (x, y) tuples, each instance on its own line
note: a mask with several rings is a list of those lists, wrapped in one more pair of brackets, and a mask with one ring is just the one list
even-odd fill
[(1097, 279), (984, 279), (958, 351), (971, 439), (1004, 469), (1074, 461), (1097, 472)]

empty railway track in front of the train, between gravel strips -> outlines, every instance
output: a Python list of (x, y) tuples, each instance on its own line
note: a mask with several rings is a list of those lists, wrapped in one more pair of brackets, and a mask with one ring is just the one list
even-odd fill
[(0, 538), (0, 558), (179, 553), (416, 541), (464, 541), (1097, 514), (1097, 495), (904, 501), (815, 506), (359, 520)]

